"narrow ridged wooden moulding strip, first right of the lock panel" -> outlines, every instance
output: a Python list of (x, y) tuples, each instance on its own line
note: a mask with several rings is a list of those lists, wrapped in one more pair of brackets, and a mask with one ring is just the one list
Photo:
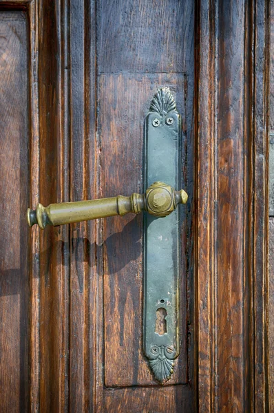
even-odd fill
[(198, 411), (213, 412), (215, 399), (214, 201), (215, 201), (215, 8), (198, 10), (198, 111), (196, 114), (196, 290)]

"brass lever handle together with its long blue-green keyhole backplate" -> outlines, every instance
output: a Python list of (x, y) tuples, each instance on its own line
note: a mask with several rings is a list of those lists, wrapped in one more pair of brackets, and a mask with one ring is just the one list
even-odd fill
[[(28, 209), (27, 218), (30, 226), (38, 224), (44, 229), (47, 225), (148, 212), (143, 222), (143, 350), (156, 381), (164, 384), (171, 378), (180, 354), (180, 262), (183, 249), (182, 215), (176, 207), (187, 202), (187, 193), (174, 189), (178, 189), (182, 182), (182, 123), (167, 87), (158, 89), (151, 100), (145, 117), (143, 141), (145, 193), (50, 204), (48, 207), (38, 204), (36, 210)], [(158, 217), (167, 218), (155, 219)]]

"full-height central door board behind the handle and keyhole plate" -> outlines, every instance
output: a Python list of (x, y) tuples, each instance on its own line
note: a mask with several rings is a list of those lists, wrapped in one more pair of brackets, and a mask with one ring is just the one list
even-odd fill
[[(105, 2), (100, 2), (98, 6), (98, 45), (101, 50), (98, 56), (98, 165), (100, 165), (98, 196), (105, 197), (114, 195), (114, 192), (127, 194), (131, 191), (143, 190), (143, 122), (156, 88), (166, 85), (171, 87), (176, 95), (178, 111), (182, 114), (185, 132), (182, 145), (184, 148), (182, 153), (183, 179), (190, 183), (187, 191), (189, 191), (191, 202), (193, 193), (191, 183), (193, 180), (193, 162), (191, 161), (194, 81), (193, 4), (186, 2), (183, 6), (174, 3), (172, 7), (167, 7), (167, 3), (164, 2), (153, 7), (152, 2), (148, 2), (142, 6), (140, 3), (132, 3), (129, 8), (128, 6), (123, 1), (116, 1), (112, 3), (107, 13), (105, 13)], [(129, 11), (130, 15), (127, 17)], [(134, 14), (137, 16), (136, 20), (132, 19)], [(114, 15), (116, 19), (113, 19)], [(147, 22), (149, 20), (154, 22), (161, 15), (161, 25), (154, 25), (154, 30), (151, 30)], [(142, 18), (143, 16), (145, 19)], [(120, 26), (120, 21), (123, 19), (125, 19), (125, 25)], [(179, 24), (180, 21), (185, 21), (184, 30)], [(163, 36), (167, 39), (165, 42), (160, 40)], [(120, 43), (122, 39), (123, 47)], [(172, 76), (169, 72), (173, 73)], [(185, 163), (187, 148), (188, 165)], [(181, 288), (181, 354), (176, 361), (176, 368), (169, 385), (187, 383), (189, 379), (187, 346), (193, 340), (191, 336), (189, 343), (187, 342), (185, 272), (187, 244), (185, 240), (187, 231), (189, 231), (188, 246), (191, 246), (191, 214), (189, 215), (189, 222), (182, 229), (182, 268), (184, 269)], [(143, 218), (133, 215), (123, 220), (111, 218), (103, 221), (101, 225), (99, 231), (102, 237), (101, 242), (103, 242), (101, 277), (103, 277), (104, 302), (105, 385), (113, 388), (157, 385), (143, 355)], [(189, 275), (191, 275), (191, 268), (189, 268)], [(189, 305), (191, 306), (191, 303)], [(189, 322), (190, 330), (192, 326), (193, 320)], [(189, 354), (190, 359), (193, 359), (193, 352)], [(125, 393), (118, 392), (117, 389), (112, 392), (104, 390), (106, 400), (109, 397), (112, 399), (114, 392), (117, 395), (115, 397), (116, 408), (120, 408), (119, 405), (123, 406), (123, 399), (120, 398), (131, 399), (130, 389)], [(162, 388), (162, 390), (158, 389), (157, 393), (164, 395), (165, 392), (167, 390)], [(124, 408), (129, 411), (131, 409), (136, 412), (143, 411), (147, 400), (145, 396), (143, 404), (136, 392), (134, 408), (131, 407), (132, 402), (129, 401)], [(167, 403), (169, 404), (162, 404), (162, 401), (159, 401), (158, 406), (155, 405), (154, 408), (158, 411), (176, 408), (171, 407), (173, 402), (167, 401)]]

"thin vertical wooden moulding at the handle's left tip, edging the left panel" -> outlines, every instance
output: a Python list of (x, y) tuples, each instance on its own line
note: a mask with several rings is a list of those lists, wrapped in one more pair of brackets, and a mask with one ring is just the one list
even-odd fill
[[(39, 107), (38, 107), (38, 5), (30, 3), (30, 205), (38, 204), (39, 193)], [(40, 237), (30, 231), (30, 411), (39, 411), (40, 393)]]

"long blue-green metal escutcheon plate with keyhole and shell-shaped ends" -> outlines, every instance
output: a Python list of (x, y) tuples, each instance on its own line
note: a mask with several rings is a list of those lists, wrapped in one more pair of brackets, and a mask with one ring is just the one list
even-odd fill
[[(145, 119), (145, 189), (155, 181), (180, 187), (180, 147), (180, 115), (164, 87)], [(154, 377), (165, 384), (180, 352), (180, 208), (165, 218), (144, 219), (144, 350)]]

